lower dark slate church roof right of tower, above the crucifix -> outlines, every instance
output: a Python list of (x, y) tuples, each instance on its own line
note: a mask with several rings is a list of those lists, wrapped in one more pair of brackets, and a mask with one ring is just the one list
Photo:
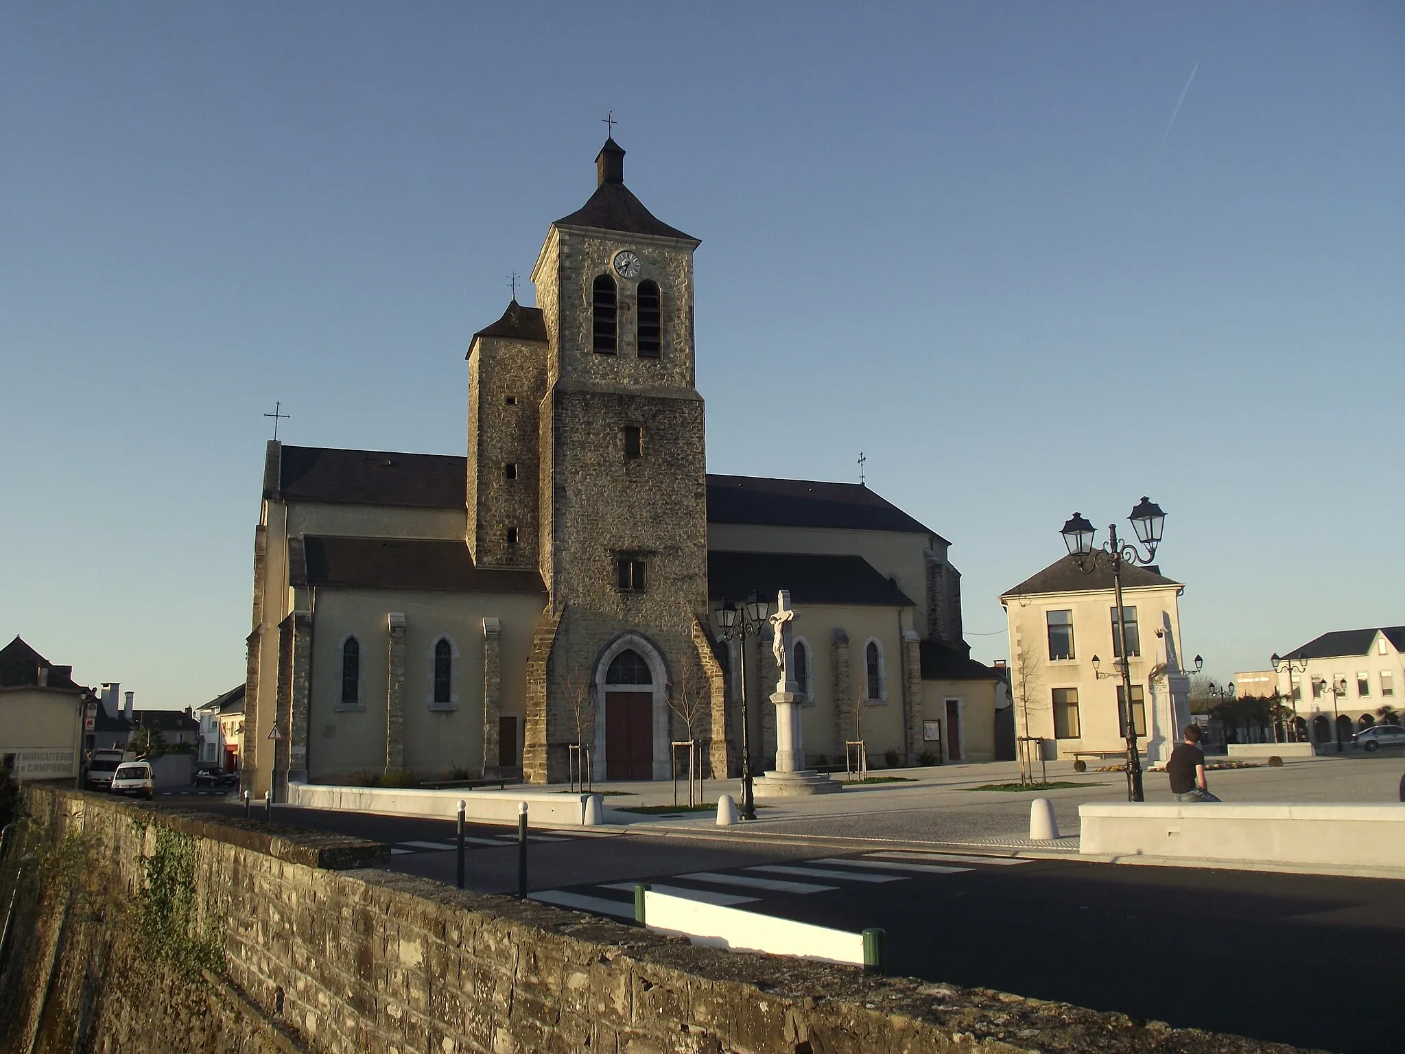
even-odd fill
[(753, 590), (776, 603), (788, 589), (798, 604), (910, 607), (912, 600), (863, 557), (808, 552), (710, 552), (708, 596), (745, 600)]

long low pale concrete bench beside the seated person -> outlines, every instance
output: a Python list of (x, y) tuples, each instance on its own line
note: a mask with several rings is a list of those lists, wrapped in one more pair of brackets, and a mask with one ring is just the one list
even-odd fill
[(1079, 852), (1405, 870), (1405, 805), (1079, 805)]

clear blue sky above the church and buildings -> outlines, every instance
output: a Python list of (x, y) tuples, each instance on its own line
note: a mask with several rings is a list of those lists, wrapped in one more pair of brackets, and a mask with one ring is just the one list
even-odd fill
[(708, 468), (864, 450), (976, 658), (1069, 513), (1144, 493), (1217, 677), (1405, 623), (1395, 0), (14, 1), (0, 635), (145, 705), (239, 683), (261, 415), (461, 454), (469, 336), (610, 108), (702, 239)]

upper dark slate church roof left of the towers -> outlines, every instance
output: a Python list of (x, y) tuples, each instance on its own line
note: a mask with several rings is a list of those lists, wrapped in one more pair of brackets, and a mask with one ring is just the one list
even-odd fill
[(282, 447), (266, 497), (337, 505), (462, 509), (468, 461), (444, 454)]

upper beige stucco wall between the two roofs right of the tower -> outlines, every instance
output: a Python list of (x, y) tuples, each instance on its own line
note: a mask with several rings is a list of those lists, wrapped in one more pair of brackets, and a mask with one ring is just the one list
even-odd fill
[(908, 531), (857, 531), (835, 527), (771, 527), (745, 523), (710, 523), (707, 547), (715, 552), (819, 552), (863, 557), (884, 578), (898, 579), (898, 589), (916, 603), (916, 630), (927, 635), (929, 542), (943, 561), (947, 547), (930, 534)]

